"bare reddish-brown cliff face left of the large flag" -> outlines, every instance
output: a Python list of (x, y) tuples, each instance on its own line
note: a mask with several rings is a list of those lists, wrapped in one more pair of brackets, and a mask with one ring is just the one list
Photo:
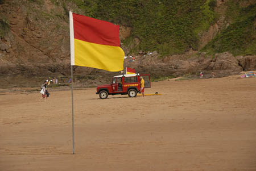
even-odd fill
[[(69, 55), (68, 16), (46, 1), (8, 1), (0, 6), (9, 31), (1, 38), (1, 74), (65, 73)], [(57, 16), (59, 15), (59, 16)]]

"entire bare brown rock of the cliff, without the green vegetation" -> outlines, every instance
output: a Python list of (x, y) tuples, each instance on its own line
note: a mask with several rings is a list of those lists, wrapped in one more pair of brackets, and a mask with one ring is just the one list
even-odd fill
[[(246, 2), (242, 5), (255, 4), (255, 1)], [(199, 53), (205, 44), (229, 25), (224, 19), (223, 3), (224, 1), (217, 1), (215, 7), (215, 10), (219, 10), (219, 14), (223, 16), (212, 24), (208, 31), (200, 32), (199, 48), (190, 48), (189, 51), (184, 52), (185, 55), (162, 57), (162, 54), (157, 52), (154, 55), (147, 55), (144, 49), (138, 48), (142, 40), (133, 37), (133, 27), (121, 26), (120, 37), (123, 42), (121, 46), (126, 55), (133, 53), (137, 59), (134, 62), (126, 59), (125, 66), (133, 67), (138, 72), (151, 73), (153, 77), (197, 74), (200, 70), (206, 72), (216, 70), (221, 77), (241, 70), (255, 70), (256, 60), (253, 54), (234, 57), (230, 53), (210, 56), (207, 53)], [(68, 80), (71, 73), (69, 10), (85, 13), (75, 1), (68, 0), (0, 1), (0, 77), (3, 80), (0, 87), (38, 86), (47, 77), (59, 77), (63, 82)], [(130, 43), (127, 44), (127, 40)], [(101, 76), (110, 77), (119, 73), (74, 67), (74, 74), (77, 80), (104, 80)], [(88, 81), (85, 83), (93, 84)]]

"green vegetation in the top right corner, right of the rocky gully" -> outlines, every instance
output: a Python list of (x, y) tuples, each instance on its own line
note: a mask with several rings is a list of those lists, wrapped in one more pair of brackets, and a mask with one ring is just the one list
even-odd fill
[(239, 3), (229, 1), (228, 7), (226, 16), (234, 22), (214, 37), (202, 51), (213, 54), (228, 51), (235, 56), (256, 54), (256, 4), (240, 7)]

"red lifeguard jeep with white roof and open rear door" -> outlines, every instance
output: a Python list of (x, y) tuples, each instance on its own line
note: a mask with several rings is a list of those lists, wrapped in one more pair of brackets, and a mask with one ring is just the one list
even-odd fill
[(129, 97), (136, 97), (137, 93), (141, 93), (140, 76), (143, 76), (143, 80), (145, 81), (144, 87), (150, 88), (151, 82), (149, 74), (123, 74), (113, 77), (111, 84), (97, 86), (96, 94), (99, 94), (101, 99), (108, 98), (109, 94), (128, 94)]

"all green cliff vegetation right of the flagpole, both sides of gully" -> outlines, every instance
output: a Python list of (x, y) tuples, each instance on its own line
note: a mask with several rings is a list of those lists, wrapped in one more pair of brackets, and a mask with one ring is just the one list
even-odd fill
[[(207, 31), (218, 20), (214, 11), (216, 0), (76, 2), (89, 16), (131, 27), (131, 37), (123, 43), (129, 45), (135, 37), (140, 40), (131, 53), (158, 51), (166, 56), (184, 53), (190, 48), (198, 50), (200, 33)], [(255, 5), (242, 7), (241, 3), (240, 0), (225, 2), (228, 7), (225, 18), (230, 25), (221, 30), (202, 51), (256, 54)]]

